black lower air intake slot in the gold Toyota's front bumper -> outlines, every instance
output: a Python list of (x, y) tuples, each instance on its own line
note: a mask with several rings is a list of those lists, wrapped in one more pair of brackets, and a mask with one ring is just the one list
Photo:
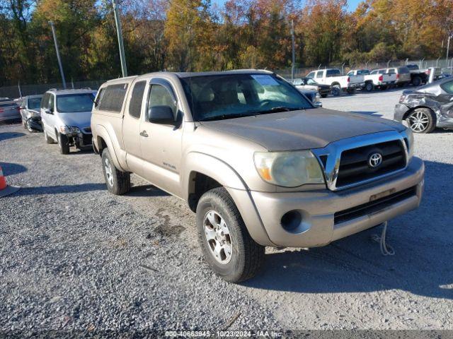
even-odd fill
[(333, 215), (333, 223), (335, 225), (341, 222), (346, 222), (356, 218), (360, 218), (363, 215), (369, 215), (372, 213), (378, 213), (389, 206), (393, 206), (395, 203), (399, 203), (403, 200), (411, 198), (417, 195), (417, 186), (413, 186), (410, 189), (396, 192), (384, 198), (379, 198), (374, 201), (369, 201), (359, 206), (348, 208), (347, 210), (340, 210)]

